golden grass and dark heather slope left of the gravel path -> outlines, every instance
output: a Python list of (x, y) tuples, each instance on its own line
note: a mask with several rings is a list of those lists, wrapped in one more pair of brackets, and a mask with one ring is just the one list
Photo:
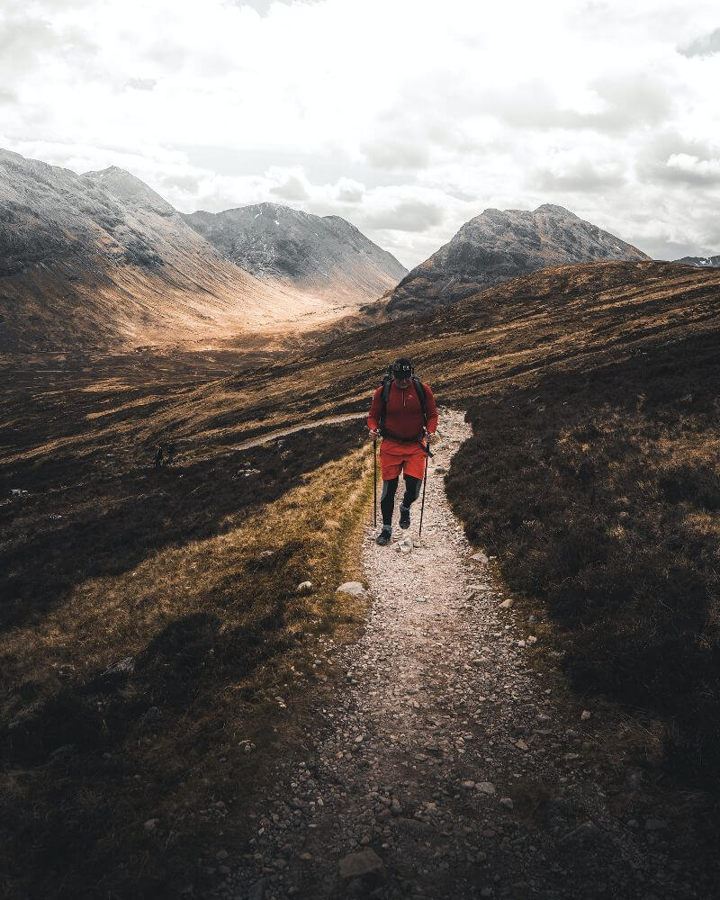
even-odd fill
[[(302, 740), (293, 708), (329, 683), (312, 660), (365, 612), (335, 594), (360, 575), (369, 500), (355, 423), (156, 471), (132, 448), (148, 409), (185, 391), (137, 393), (95, 384), (4, 409), (30, 448), (2, 466), (30, 491), (0, 505), (6, 896), (175, 897), (210, 878), (218, 847), (247, 837), (263, 767)], [(127, 657), (133, 671), (104, 674)]]

